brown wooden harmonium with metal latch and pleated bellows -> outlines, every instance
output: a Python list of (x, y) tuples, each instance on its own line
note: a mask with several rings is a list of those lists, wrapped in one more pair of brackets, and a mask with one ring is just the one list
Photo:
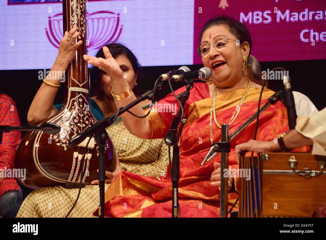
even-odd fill
[(312, 217), (326, 204), (325, 162), (307, 152), (241, 157), (250, 177), (239, 180), (239, 217)]

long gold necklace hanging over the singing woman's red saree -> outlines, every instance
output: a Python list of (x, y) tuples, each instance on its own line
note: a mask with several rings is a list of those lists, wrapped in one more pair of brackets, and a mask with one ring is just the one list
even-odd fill
[[(238, 105), (236, 106), (236, 108), (235, 108), (235, 111), (234, 111), (234, 113), (233, 113), (233, 115), (232, 115), (232, 117), (231, 117), (231, 120), (230, 120), (230, 122), (229, 122), (229, 125), (231, 125), (231, 124), (234, 122), (234, 120), (238, 117), (238, 115), (239, 115), (239, 113), (240, 113), (240, 109), (241, 109), (241, 107), (242, 107), (242, 104), (244, 103), (245, 97), (247, 96), (247, 93), (248, 93), (248, 91), (249, 91), (249, 89), (250, 89), (250, 86), (251, 86), (251, 84), (250, 84), (250, 80), (249, 80), (249, 78), (247, 78), (247, 79), (248, 79), (248, 85), (247, 85), (247, 88), (246, 88), (246, 90), (245, 90), (245, 92), (244, 92), (244, 95), (242, 95), (239, 104), (238, 104)], [(214, 114), (214, 121), (215, 121), (215, 124), (216, 124), (219, 128), (222, 128), (222, 127), (218, 124), (218, 122), (217, 122), (217, 120), (216, 120), (216, 114), (215, 114), (216, 89), (217, 89), (217, 87), (215, 86), (215, 87), (214, 87), (214, 90), (213, 90), (212, 104), (211, 104), (211, 112), (210, 112), (210, 118), (209, 118), (209, 132), (210, 132), (211, 143), (212, 143), (212, 144), (213, 144), (213, 133), (212, 133), (212, 116), (213, 116), (213, 114)]]

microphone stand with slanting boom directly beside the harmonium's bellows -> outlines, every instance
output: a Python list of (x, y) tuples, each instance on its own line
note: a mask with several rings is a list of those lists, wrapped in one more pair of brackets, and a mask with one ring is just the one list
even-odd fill
[[(284, 91), (284, 90), (283, 90)], [(275, 92), (259, 110), (259, 115), (263, 113), (270, 105), (274, 105), (278, 100), (280, 100), (283, 91)], [(220, 190), (220, 217), (228, 217), (228, 184), (224, 178), (224, 169), (228, 169), (228, 153), (230, 152), (230, 141), (234, 139), (239, 133), (241, 133), (250, 123), (257, 119), (258, 111), (252, 115), (248, 120), (246, 120), (237, 130), (235, 130), (229, 136), (229, 125), (222, 125), (222, 135), (221, 142), (213, 143), (211, 149), (206, 154), (201, 166), (204, 165), (206, 161), (210, 161), (218, 152), (221, 153), (221, 190)], [(213, 152), (213, 153), (212, 153)], [(227, 174), (229, 175), (229, 174)], [(228, 177), (228, 176), (227, 176)]]

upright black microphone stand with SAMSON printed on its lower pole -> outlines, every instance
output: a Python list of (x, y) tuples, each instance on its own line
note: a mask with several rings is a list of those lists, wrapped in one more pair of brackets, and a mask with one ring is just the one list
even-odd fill
[[(185, 80), (185, 81), (186, 81), (186, 85), (185, 85), (186, 90), (177, 96), (178, 99), (181, 100), (182, 108), (185, 107), (185, 103), (187, 102), (190, 95), (190, 90), (194, 87), (193, 80)], [(180, 107), (177, 115), (172, 120), (169, 132), (164, 137), (165, 143), (170, 147), (173, 146), (172, 174), (171, 174), (172, 218), (178, 217), (178, 209), (180, 209), (179, 200), (178, 200), (178, 192), (179, 192), (178, 183), (180, 180), (180, 156), (179, 156), (180, 152), (178, 146), (179, 136), (177, 135), (177, 129), (180, 121), (182, 123), (186, 122), (186, 118), (181, 120), (181, 118), (183, 118), (181, 114), (182, 114), (182, 110)]]

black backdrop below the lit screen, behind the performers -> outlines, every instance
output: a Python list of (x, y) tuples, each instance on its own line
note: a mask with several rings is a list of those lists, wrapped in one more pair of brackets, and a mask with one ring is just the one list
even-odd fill
[[(275, 67), (283, 67), (289, 71), (292, 89), (308, 96), (315, 104), (318, 110), (326, 106), (325, 98), (325, 68), (326, 60), (309, 60), (309, 61), (287, 61), (287, 62), (262, 62), (261, 71), (270, 71)], [(197, 71), (202, 65), (187, 65), (192, 71)], [(178, 69), (180, 66), (159, 66), (159, 67), (143, 67), (143, 81), (137, 85), (137, 90), (145, 92), (154, 87), (156, 78), (165, 72)], [(43, 71), (42, 69), (40, 69)], [(27, 112), (32, 100), (42, 84), (42, 80), (38, 80), (38, 71), (40, 70), (3, 70), (0, 71), (0, 91), (8, 94), (16, 103), (21, 125), (28, 125)], [(64, 85), (64, 84), (62, 84)], [(174, 90), (184, 86), (183, 82), (172, 83)], [(64, 99), (63, 86), (60, 87), (55, 98), (54, 104), (60, 104)], [(274, 91), (284, 89), (280, 80), (269, 80), (268, 88)], [(165, 97), (170, 93), (170, 88), (166, 87), (162, 91), (157, 92), (157, 100)], [(22, 136), (24, 133), (22, 133)], [(20, 184), (24, 198), (32, 192), (31, 189), (25, 188)]]

